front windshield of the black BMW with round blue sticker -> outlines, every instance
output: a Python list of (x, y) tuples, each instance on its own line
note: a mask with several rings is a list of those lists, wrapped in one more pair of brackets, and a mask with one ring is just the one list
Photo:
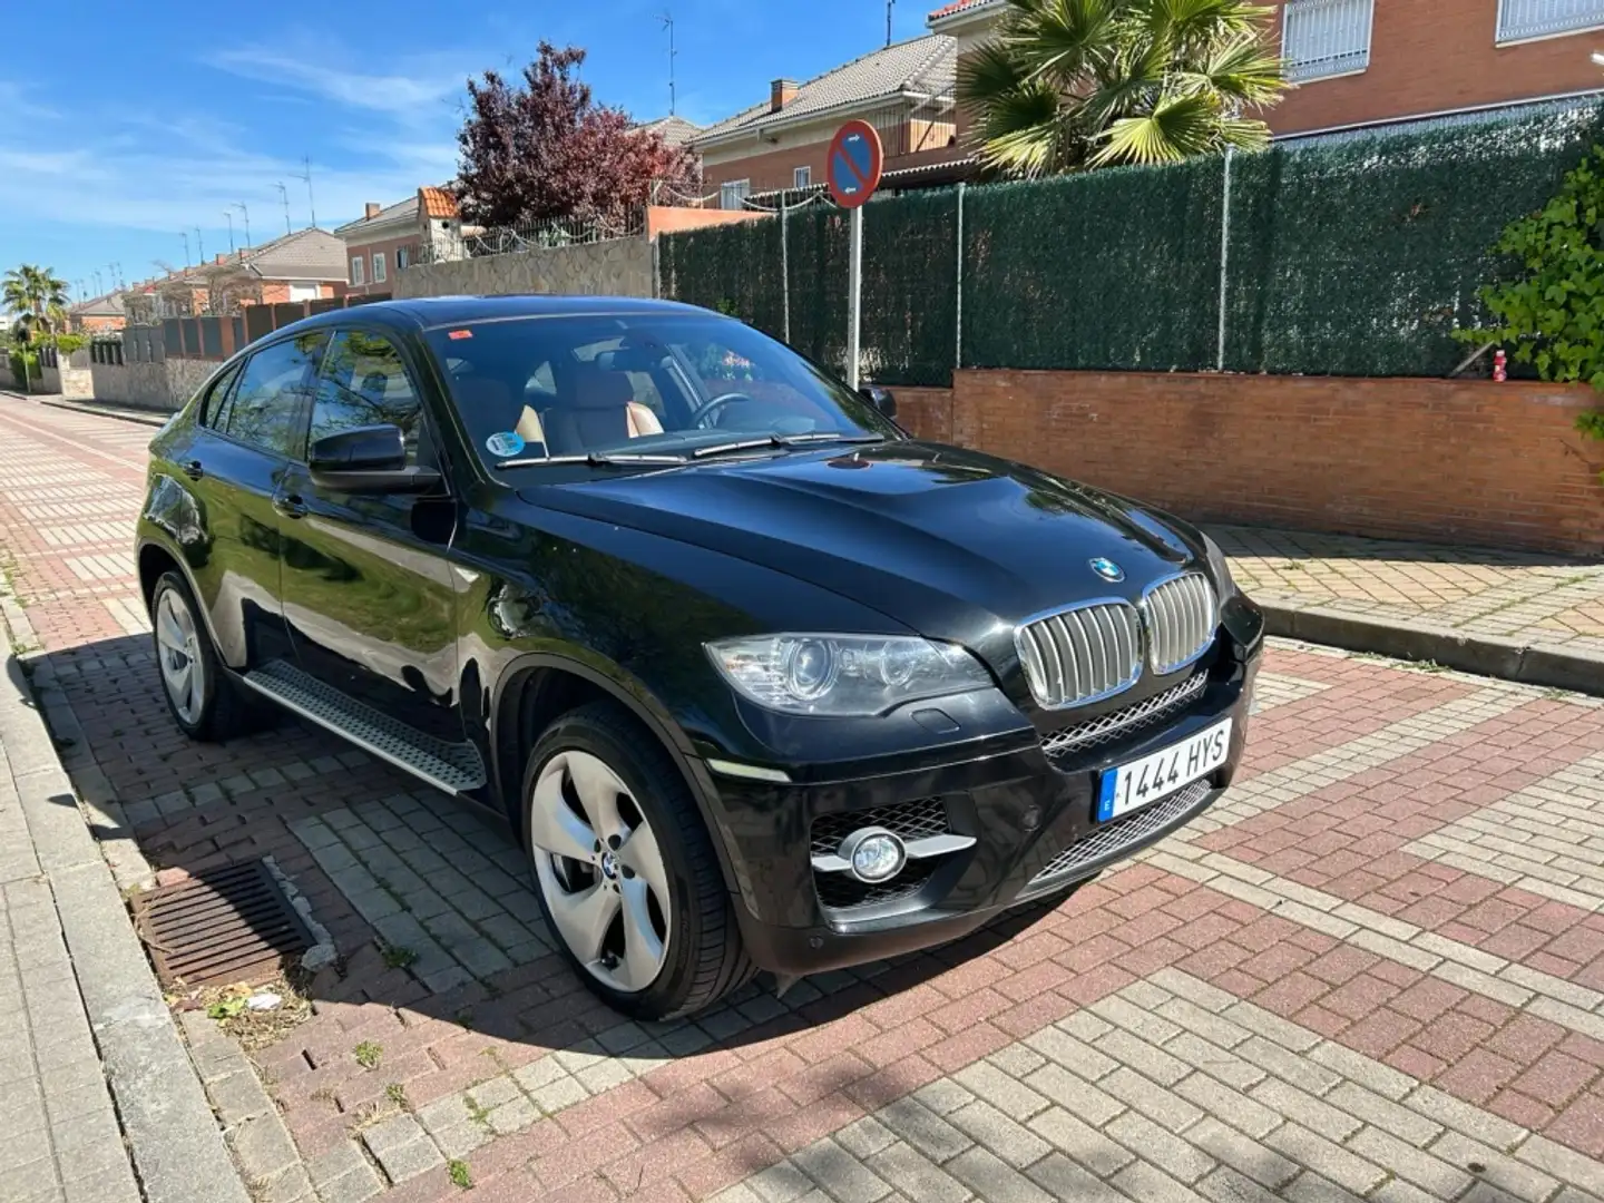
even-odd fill
[(675, 464), (751, 448), (900, 438), (783, 343), (696, 313), (516, 318), (427, 334), (494, 468)]

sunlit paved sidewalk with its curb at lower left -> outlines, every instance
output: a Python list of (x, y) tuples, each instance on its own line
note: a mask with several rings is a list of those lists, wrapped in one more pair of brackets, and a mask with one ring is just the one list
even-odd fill
[[(0, 1181), (8, 1203), (244, 1203), (16, 646), (0, 682)], [(141, 1190), (143, 1184), (143, 1190)]]

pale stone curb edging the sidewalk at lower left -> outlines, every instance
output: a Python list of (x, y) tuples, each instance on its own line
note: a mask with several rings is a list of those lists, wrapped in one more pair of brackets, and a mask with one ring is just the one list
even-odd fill
[[(10, 603), (11, 598), (6, 598)], [(22, 618), (13, 638), (32, 635)], [(14, 653), (5, 658), (0, 743), (40, 868), (56, 895), (72, 972), (135, 1169), (151, 1203), (249, 1203), (173, 1015), (128, 921)]]

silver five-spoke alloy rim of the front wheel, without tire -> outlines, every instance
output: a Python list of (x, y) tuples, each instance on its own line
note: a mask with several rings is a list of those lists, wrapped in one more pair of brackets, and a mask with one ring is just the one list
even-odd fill
[(667, 956), (669, 877), (629, 786), (590, 752), (558, 752), (536, 778), (529, 836), (568, 950), (613, 990), (650, 986)]

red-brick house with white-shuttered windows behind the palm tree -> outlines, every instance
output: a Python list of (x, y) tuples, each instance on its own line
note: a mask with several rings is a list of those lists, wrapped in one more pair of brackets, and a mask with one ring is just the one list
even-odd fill
[[(1437, 117), (1604, 90), (1604, 0), (1266, 0), (1298, 83), (1266, 114), (1277, 135)], [(1004, 0), (956, 0), (926, 18), (958, 55)], [(959, 114), (959, 130), (969, 120)]]

